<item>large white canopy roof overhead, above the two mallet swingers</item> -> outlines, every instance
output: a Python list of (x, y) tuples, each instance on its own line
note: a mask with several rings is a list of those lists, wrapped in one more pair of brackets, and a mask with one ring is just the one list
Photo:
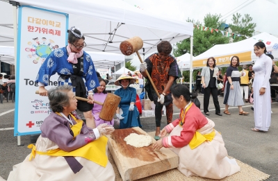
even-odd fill
[[(120, 0), (81, 0), (78, 2), (76, 0), (18, 0), (17, 2), (20, 5), (69, 13), (69, 25), (81, 28), (85, 35), (87, 44), (85, 51), (120, 53), (119, 46), (122, 41), (138, 36), (144, 42), (145, 53), (152, 53), (156, 51), (156, 44), (161, 40), (174, 43), (193, 35), (192, 23), (155, 17)], [(5, 16), (8, 17), (8, 15)], [(11, 40), (7, 37), (13, 38), (13, 31), (10, 28), (3, 28), (7, 21), (3, 20), (3, 23), (1, 21), (0, 19), (0, 26), (2, 26), (0, 45), (10, 43), (10, 46), (13, 46), (13, 42), (1, 42), (1, 40)], [(13, 21), (9, 24), (13, 24)], [(143, 53), (144, 49), (139, 52)]]

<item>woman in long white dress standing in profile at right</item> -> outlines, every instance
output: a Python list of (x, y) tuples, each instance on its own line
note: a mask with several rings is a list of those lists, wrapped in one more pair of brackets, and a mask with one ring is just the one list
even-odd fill
[(254, 95), (254, 121), (253, 131), (268, 131), (271, 123), (271, 97), (270, 97), (270, 74), (272, 70), (272, 60), (265, 55), (266, 48), (263, 42), (254, 44), (256, 60), (253, 70), (255, 72), (254, 83), (252, 85)]

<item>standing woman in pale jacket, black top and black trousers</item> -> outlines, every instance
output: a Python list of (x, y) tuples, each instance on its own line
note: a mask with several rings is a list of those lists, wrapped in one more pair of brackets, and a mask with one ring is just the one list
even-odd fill
[[(214, 74), (214, 72), (217, 72)], [(209, 97), (213, 96), (213, 103), (215, 107), (215, 114), (222, 116), (220, 113), (220, 105), (218, 102), (218, 68), (216, 67), (216, 62), (213, 57), (208, 58), (206, 61), (206, 67), (202, 69), (202, 86), (204, 87), (204, 114), (209, 116), (208, 104)]]

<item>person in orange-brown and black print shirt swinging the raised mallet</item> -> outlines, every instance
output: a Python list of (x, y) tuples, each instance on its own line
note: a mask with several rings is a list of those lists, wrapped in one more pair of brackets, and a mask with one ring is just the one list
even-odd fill
[(158, 53), (150, 55), (144, 63), (140, 64), (140, 71), (142, 76), (147, 78), (147, 74), (145, 72), (145, 70), (147, 69), (161, 97), (158, 98), (156, 92), (154, 91), (154, 87), (152, 87), (152, 84), (147, 78), (145, 89), (147, 90), (149, 99), (151, 101), (154, 101), (156, 105), (156, 135), (154, 137), (154, 139), (156, 140), (160, 139), (158, 135), (161, 128), (163, 105), (165, 105), (166, 107), (167, 123), (172, 122), (173, 103), (170, 88), (173, 84), (177, 83), (177, 78), (181, 77), (181, 71), (179, 71), (177, 60), (172, 55), (170, 55), (172, 51), (170, 42), (161, 41), (157, 45), (157, 51)]

